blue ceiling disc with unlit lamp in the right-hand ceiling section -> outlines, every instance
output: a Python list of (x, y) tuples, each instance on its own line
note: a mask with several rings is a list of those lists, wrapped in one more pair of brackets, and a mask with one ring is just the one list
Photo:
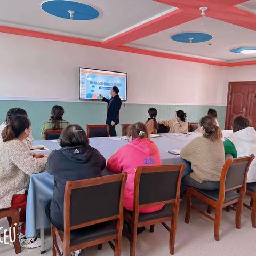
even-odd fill
[(212, 36), (205, 33), (189, 32), (173, 35), (171, 38), (180, 43), (201, 43), (211, 40)]

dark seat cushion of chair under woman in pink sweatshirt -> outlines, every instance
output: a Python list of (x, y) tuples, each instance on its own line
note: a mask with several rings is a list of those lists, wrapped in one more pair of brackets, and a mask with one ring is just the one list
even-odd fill
[[(172, 211), (173, 204), (166, 204), (164, 207), (157, 211), (157, 212), (150, 212), (150, 213), (139, 213), (138, 222), (144, 222), (148, 220), (160, 219), (165, 217), (171, 217), (173, 215)], [(127, 211), (127, 210), (125, 210)], [(133, 214), (132, 211), (127, 211), (131, 216)]]

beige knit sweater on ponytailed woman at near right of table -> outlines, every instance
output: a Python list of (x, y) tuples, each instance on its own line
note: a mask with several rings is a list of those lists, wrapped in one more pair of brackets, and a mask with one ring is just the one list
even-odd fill
[(191, 178), (203, 181), (220, 181), (222, 167), (225, 164), (223, 142), (213, 142), (205, 137), (197, 137), (184, 147), (180, 156), (191, 162)]

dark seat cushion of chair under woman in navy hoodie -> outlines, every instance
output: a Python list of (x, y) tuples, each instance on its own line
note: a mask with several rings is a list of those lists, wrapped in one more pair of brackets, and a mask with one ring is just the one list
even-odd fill
[[(63, 234), (63, 230), (61, 230), (61, 233)], [(70, 232), (70, 246), (115, 234), (117, 234), (115, 221), (106, 221), (89, 227), (75, 229)]]

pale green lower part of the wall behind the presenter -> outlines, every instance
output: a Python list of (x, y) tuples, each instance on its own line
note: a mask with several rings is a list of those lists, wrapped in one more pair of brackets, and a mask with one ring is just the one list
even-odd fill
[[(18, 101), (0, 100), (0, 121), (3, 122), (10, 108), (19, 107), (27, 111), (33, 136), (35, 140), (41, 139), (41, 125), (50, 118), (51, 108), (61, 105), (65, 109), (64, 119), (70, 123), (79, 124), (86, 129), (86, 124), (105, 124), (107, 104), (102, 102), (52, 102), (52, 101)], [(209, 108), (218, 112), (218, 121), (223, 129), (225, 125), (226, 106), (194, 106), (194, 105), (149, 105), (123, 103), (119, 117), (120, 123), (132, 124), (145, 122), (147, 110), (154, 107), (158, 111), (157, 120), (172, 119), (175, 110), (183, 110), (187, 113), (189, 122), (198, 122)], [(117, 134), (121, 135), (121, 124), (116, 127)]]

